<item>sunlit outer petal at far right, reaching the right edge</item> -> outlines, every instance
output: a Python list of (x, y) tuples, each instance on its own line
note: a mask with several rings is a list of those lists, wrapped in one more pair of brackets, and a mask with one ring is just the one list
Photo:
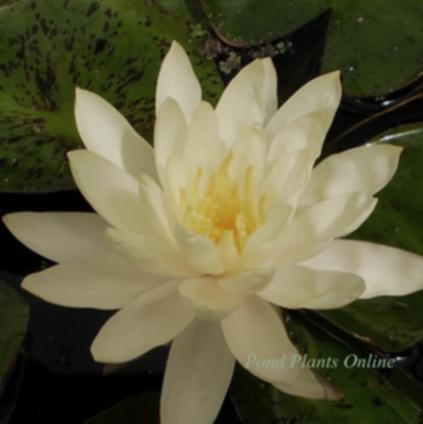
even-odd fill
[(305, 265), (360, 275), (366, 282), (364, 299), (403, 296), (423, 289), (423, 258), (380, 244), (335, 240)]

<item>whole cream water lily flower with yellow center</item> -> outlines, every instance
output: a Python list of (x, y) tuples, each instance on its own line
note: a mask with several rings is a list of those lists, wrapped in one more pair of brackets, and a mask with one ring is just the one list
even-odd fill
[(158, 77), (154, 149), (113, 106), (77, 89), (86, 149), (69, 161), (96, 213), (4, 218), (22, 243), (58, 262), (26, 277), (26, 290), (119, 310), (92, 344), (95, 360), (126, 362), (173, 341), (163, 424), (212, 423), (235, 360), (287, 393), (337, 398), (299, 364), (247, 363), (297, 353), (273, 305), (322, 310), (423, 288), (421, 257), (342, 239), (374, 210), (401, 149), (358, 147), (315, 166), (340, 102), (339, 73), (280, 108), (276, 85), (272, 61), (257, 59), (214, 109), (174, 42)]

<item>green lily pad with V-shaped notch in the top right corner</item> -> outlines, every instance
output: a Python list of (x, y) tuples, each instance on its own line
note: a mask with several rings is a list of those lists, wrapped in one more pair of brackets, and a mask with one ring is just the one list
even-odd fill
[(342, 70), (349, 96), (384, 96), (414, 81), (423, 69), (419, 0), (202, 0), (202, 4), (218, 35), (241, 47), (274, 41), (332, 9), (321, 72)]

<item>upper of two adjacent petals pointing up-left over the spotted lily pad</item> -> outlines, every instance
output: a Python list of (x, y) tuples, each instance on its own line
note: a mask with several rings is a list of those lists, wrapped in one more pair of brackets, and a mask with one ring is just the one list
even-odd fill
[(76, 89), (75, 119), (85, 147), (129, 174), (157, 179), (153, 148), (110, 103), (99, 95)]

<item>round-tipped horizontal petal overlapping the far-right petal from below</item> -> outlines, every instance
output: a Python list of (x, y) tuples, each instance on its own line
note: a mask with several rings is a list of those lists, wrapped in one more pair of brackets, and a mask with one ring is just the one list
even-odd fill
[(284, 308), (333, 309), (358, 299), (365, 288), (355, 274), (292, 266), (280, 267), (258, 294)]

